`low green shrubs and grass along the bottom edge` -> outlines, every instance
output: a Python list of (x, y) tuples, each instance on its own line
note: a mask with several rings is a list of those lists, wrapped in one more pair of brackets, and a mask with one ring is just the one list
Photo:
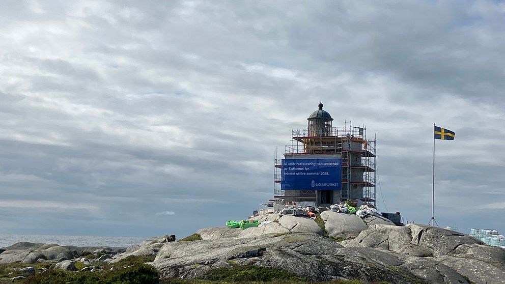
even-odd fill
[[(232, 268), (218, 268), (209, 271), (202, 279), (163, 279), (159, 280), (159, 272), (152, 266), (145, 264), (154, 260), (153, 255), (130, 256), (115, 264), (106, 264), (97, 272), (70, 272), (60, 269), (49, 269), (44, 273), (39, 271), (48, 268), (51, 263), (22, 264), (11, 263), (0, 265), (0, 284), (10, 283), (10, 278), (20, 276), (21, 268), (33, 266), (38, 271), (35, 276), (17, 283), (23, 284), (308, 284), (314, 283), (307, 278), (300, 277), (293, 272), (278, 269), (257, 267), (252, 265), (240, 266), (229, 261)], [(77, 262), (76, 267), (86, 265)], [(200, 265), (199, 265), (200, 266)], [(8, 275), (10, 272), (14, 272)], [(388, 284), (387, 282), (367, 283), (360, 280), (338, 280), (319, 282), (320, 284)]]

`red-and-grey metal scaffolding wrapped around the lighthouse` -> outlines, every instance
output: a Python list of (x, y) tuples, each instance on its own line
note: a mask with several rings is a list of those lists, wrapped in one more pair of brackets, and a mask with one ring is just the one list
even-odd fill
[[(367, 138), (364, 126), (352, 126), (351, 121), (345, 121), (342, 127), (332, 127), (331, 123), (314, 129), (292, 130), (291, 145), (286, 145), (284, 157), (299, 157), (303, 155), (333, 154), (342, 159), (342, 190), (341, 201), (359, 199), (375, 206), (376, 179), (376, 139)], [(286, 201), (316, 201), (316, 190), (283, 190), (282, 158), (275, 151), (274, 158), (274, 196)], [(352, 189), (362, 188), (361, 196), (352, 196)]]

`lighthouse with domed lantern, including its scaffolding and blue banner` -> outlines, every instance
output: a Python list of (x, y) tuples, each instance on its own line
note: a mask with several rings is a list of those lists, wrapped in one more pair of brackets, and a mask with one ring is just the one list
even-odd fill
[(306, 129), (292, 131), (284, 158), (275, 157), (275, 198), (329, 206), (341, 201), (375, 205), (376, 140), (364, 126), (333, 127), (323, 104), (307, 118)]

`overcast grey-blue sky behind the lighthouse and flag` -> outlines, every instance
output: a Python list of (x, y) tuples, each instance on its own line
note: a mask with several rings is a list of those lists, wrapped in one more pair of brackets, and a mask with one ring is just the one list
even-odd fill
[[(190, 235), (273, 197), (323, 102), (377, 207), (505, 234), (505, 4), (2, 1), (0, 233)], [(381, 197), (382, 194), (382, 197)]]

